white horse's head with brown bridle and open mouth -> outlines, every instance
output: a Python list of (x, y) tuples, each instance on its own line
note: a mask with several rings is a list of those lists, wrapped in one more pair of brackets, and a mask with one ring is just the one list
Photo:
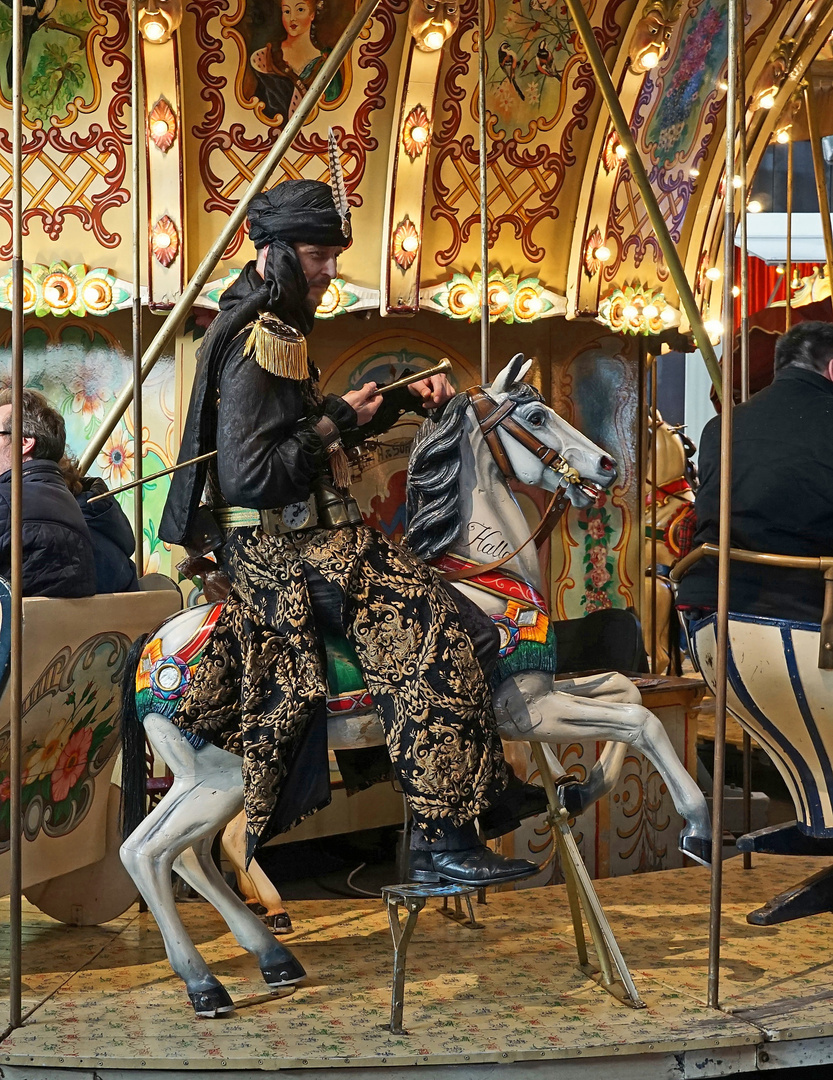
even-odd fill
[(588, 507), (616, 480), (616, 463), (524, 382), (532, 363), (518, 353), (492, 383), (488, 397), (507, 410), (494, 430), (519, 481), (548, 491), (566, 487), (575, 507)]

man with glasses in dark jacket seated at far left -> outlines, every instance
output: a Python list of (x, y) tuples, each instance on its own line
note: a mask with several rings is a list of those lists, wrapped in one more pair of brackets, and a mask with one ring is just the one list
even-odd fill
[[(23, 594), (92, 596), (93, 542), (58, 461), (64, 417), (35, 390), (23, 391)], [(12, 562), (12, 395), (0, 393), (0, 576)]]

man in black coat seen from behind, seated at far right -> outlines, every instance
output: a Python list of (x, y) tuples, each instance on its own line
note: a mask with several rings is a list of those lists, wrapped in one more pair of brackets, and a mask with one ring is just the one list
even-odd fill
[[(731, 545), (778, 555), (833, 554), (833, 325), (798, 323), (776, 346), (775, 379), (733, 418)], [(700, 441), (695, 544), (717, 543), (721, 421)], [(731, 564), (733, 611), (820, 622), (821, 573)], [(680, 584), (683, 608), (717, 603), (716, 559)]]

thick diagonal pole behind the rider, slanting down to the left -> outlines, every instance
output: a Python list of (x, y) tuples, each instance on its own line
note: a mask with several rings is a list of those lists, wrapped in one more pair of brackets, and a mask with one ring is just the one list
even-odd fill
[[(211, 245), (207, 254), (197, 268), (193, 278), (191, 278), (179, 299), (169, 312), (167, 318), (159, 328), (153, 340), (148, 346), (142, 362), (143, 381), (153, 369), (153, 365), (162, 355), (169, 342), (174, 339), (176, 332), (185, 322), (188, 312), (191, 310), (200, 295), (202, 286), (211, 278), (214, 268), (223, 258), (224, 252), (234, 239), (238, 229), (240, 229), (245, 221), (250, 202), (256, 194), (259, 194), (269, 183), (272, 173), (280, 164), (283, 156), (292, 146), (296, 135), (304, 126), (307, 117), (310, 114), (315, 105), (318, 105), (324, 91), (333, 81), (333, 77), (336, 71), (338, 71), (341, 62), (345, 56), (347, 56), (355, 39), (364, 29), (364, 26), (373, 15), (379, 2), (380, 0), (362, 0), (361, 6), (350, 19), (347, 29), (339, 38), (332, 53), (324, 60), (321, 70), (312, 80), (309, 90), (300, 99), (297, 109), (293, 112), (283, 131), (276, 139), (274, 145), (264, 159), (258, 171), (255, 173), (252, 178), (252, 183), (243, 193), (240, 202), (229, 215), (229, 219), (226, 222), (225, 228)], [(99, 450), (107, 442), (107, 438), (112, 433), (116, 424), (124, 415), (124, 410), (131, 403), (132, 399), (133, 379), (131, 379), (131, 381), (119, 392), (119, 396), (116, 399), (116, 403), (104, 418), (100, 428), (96, 431), (90, 442), (90, 445), (81, 455), (79, 465), (82, 473), (89, 471), (90, 465), (93, 463)]]

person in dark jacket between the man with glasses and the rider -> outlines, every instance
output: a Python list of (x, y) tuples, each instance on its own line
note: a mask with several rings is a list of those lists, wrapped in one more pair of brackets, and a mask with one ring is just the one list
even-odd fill
[(136, 592), (138, 578), (136, 565), (131, 558), (136, 541), (127, 515), (111, 495), (90, 502), (98, 495), (107, 495), (107, 485), (100, 476), (83, 476), (71, 455), (65, 455), (58, 464), (90, 529), (95, 555), (96, 592)]

